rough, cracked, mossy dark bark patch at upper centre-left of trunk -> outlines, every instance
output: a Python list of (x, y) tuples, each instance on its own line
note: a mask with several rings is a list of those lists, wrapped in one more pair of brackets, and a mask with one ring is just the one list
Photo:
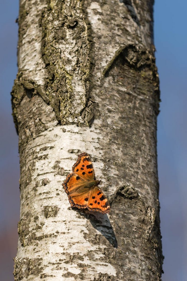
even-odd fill
[[(79, 11), (78, 13), (76, 12), (77, 17), (64, 14), (62, 12), (64, 11), (63, 5), (66, 6), (64, 2), (59, 1), (55, 9), (51, 9), (50, 4), (48, 4), (48, 6), (43, 9), (40, 17), (39, 24), (42, 27), (41, 55), (46, 66), (46, 71), (48, 72), (48, 81), (46, 83), (47, 91), (42, 91), (40, 95), (53, 107), (60, 124), (74, 123), (78, 126), (80, 126), (80, 124), (91, 126), (97, 114), (97, 105), (91, 100), (90, 96), (92, 89), (92, 69), (95, 65), (91, 24), (84, 10), (78, 8), (78, 4), (75, 4), (74, 7), (68, 7), (68, 10), (70, 9), (69, 11), (72, 14), (74, 14), (74, 9)], [(60, 11), (61, 17), (59, 17)], [(52, 19), (50, 18), (51, 14), (53, 15)], [(68, 29), (74, 30), (74, 35), (72, 34), (72, 36), (77, 44), (76, 48), (72, 45), (72, 52), (79, 58), (79, 61), (81, 61), (81, 67), (79, 63), (77, 63), (75, 71), (79, 69), (80, 79), (86, 88), (85, 92), (83, 92), (83, 97), (80, 97), (82, 105), (78, 107), (79, 113), (75, 113), (73, 107), (74, 101), (76, 101), (72, 83), (73, 73), (67, 73), (65, 67), (66, 63), (71, 64), (71, 59), (67, 57), (64, 58), (65, 65), (61, 67), (61, 75), (59, 76), (57, 73), (60, 66), (59, 61), (61, 61), (61, 54), (56, 52), (56, 48), (51, 45), (51, 42), (55, 42), (55, 45), (61, 44), (61, 40), (66, 36), (65, 34)], [(49, 37), (51, 38), (51, 42), (48, 40)], [(84, 46), (83, 53), (82, 46)], [(55, 98), (52, 97), (53, 92), (56, 92)], [(77, 115), (79, 115), (79, 119), (77, 119)], [(70, 119), (72, 121), (70, 121)]]

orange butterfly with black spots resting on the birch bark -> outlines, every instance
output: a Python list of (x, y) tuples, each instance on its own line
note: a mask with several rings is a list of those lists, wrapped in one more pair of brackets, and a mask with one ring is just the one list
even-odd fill
[(96, 180), (89, 154), (83, 152), (62, 184), (68, 194), (71, 207), (87, 208), (102, 214), (109, 213), (110, 205), (106, 196), (99, 189), (100, 180)]

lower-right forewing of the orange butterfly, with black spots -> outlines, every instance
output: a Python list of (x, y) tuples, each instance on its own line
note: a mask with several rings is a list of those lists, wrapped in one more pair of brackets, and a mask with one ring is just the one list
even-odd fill
[(87, 208), (90, 211), (97, 211), (102, 214), (107, 214), (110, 212), (108, 200), (98, 186), (95, 186), (91, 190)]

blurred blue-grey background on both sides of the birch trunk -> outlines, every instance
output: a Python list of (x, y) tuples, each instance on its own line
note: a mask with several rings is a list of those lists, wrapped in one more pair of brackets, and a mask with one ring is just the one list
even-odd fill
[[(160, 75), (158, 174), (163, 281), (187, 280), (187, 2), (156, 0), (154, 43)], [(13, 281), (19, 221), (18, 136), (11, 116), (10, 92), (17, 73), (18, 0), (1, 1), (0, 10), (0, 272)]]

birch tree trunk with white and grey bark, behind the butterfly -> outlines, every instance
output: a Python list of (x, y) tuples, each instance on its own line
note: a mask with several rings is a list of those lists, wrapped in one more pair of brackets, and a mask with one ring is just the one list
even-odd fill
[[(18, 66), (15, 280), (161, 280), (153, 0), (20, 0)], [(70, 207), (81, 152), (108, 215)]]

